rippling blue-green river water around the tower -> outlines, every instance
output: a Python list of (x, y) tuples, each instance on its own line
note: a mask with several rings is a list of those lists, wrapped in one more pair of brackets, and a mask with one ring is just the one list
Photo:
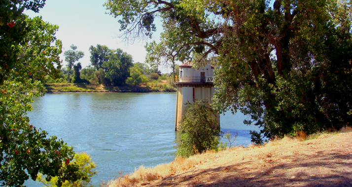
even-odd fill
[[(97, 163), (93, 177), (98, 187), (119, 171), (156, 166), (175, 158), (176, 93), (46, 94), (35, 97), (28, 112), (30, 124), (63, 139), (75, 152), (87, 152)], [(220, 115), (224, 132), (239, 132), (236, 145), (250, 144), (246, 117)], [(40, 187), (28, 181), (29, 187)]]

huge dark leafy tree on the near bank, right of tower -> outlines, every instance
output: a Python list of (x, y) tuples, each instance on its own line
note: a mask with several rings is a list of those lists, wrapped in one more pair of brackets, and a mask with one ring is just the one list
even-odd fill
[(249, 115), (245, 123), (261, 127), (251, 132), (255, 142), (352, 125), (351, 1), (107, 0), (105, 6), (126, 38), (150, 35), (154, 17), (162, 19), (161, 42), (146, 45), (148, 62), (211, 61), (214, 106)]

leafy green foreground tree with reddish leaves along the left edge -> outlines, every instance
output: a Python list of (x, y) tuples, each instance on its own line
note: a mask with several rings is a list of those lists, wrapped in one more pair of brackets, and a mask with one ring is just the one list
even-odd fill
[[(13, 15), (19, 15), (10, 18), (9, 13), (8, 19), (14, 19), (15, 25), (6, 25), (6, 32), (1, 30), (1, 52), (7, 50), (6, 55), (0, 55), (1, 67), (7, 69), (1, 69), (0, 83), (0, 186), (21, 186), (29, 177), (35, 180), (38, 172), (47, 179), (57, 176), (58, 186), (66, 180), (79, 179), (75, 164), (66, 168), (61, 164), (70, 163), (73, 148), (55, 136), (47, 137), (48, 133), (30, 125), (26, 116), (27, 111), (32, 110), (32, 97), (46, 92), (43, 84), (32, 77), (57, 77), (61, 67), (62, 43), (55, 37), (58, 26), (40, 17), (30, 19), (22, 14), (24, 8), (37, 10), (43, 3), (39, 0), (1, 1), (1, 14), (6, 7), (7, 13), (14, 11)], [(3, 25), (0, 27), (3, 29)], [(13, 38), (7, 38), (8, 32)], [(11, 46), (2, 43), (2, 39), (11, 41)], [(5, 56), (10, 57), (3, 58)]]

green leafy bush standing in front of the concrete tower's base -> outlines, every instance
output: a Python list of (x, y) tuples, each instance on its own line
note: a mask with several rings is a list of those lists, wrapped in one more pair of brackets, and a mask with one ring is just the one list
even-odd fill
[(220, 126), (215, 116), (216, 112), (209, 107), (206, 99), (187, 102), (180, 121), (183, 134), (178, 142), (178, 156), (188, 157), (217, 149), (219, 140), (216, 135), (220, 133)]

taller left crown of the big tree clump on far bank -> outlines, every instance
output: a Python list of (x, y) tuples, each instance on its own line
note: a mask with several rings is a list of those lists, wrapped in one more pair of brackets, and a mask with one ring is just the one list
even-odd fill
[(91, 54), (90, 62), (97, 70), (103, 67), (103, 63), (109, 60), (109, 55), (113, 52), (106, 45), (99, 44), (97, 44), (97, 47), (91, 45), (89, 51)]

